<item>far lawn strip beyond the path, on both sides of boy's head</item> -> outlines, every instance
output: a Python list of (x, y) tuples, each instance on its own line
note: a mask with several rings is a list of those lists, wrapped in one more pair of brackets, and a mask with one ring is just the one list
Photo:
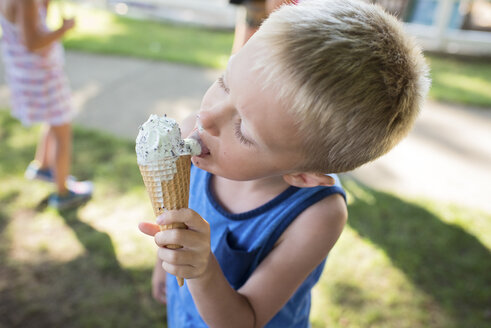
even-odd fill
[[(232, 31), (135, 20), (73, 4), (66, 7), (77, 18), (77, 27), (64, 39), (70, 50), (224, 68), (232, 48)], [(59, 6), (54, 5), (50, 25), (59, 22)], [(433, 80), (431, 99), (491, 108), (489, 58), (427, 57)]]

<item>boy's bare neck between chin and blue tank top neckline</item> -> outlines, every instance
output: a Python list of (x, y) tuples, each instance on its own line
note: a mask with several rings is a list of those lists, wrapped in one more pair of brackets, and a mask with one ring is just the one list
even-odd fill
[(216, 201), (224, 209), (235, 214), (266, 204), (290, 186), (281, 176), (235, 181), (213, 175), (210, 184)]

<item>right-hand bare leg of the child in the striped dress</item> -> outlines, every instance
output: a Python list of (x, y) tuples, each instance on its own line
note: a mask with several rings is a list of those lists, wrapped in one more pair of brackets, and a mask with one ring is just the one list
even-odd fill
[(59, 126), (51, 126), (54, 140), (53, 171), (55, 183), (59, 195), (65, 195), (68, 189), (65, 185), (66, 178), (70, 172), (72, 154), (72, 127), (70, 123)]

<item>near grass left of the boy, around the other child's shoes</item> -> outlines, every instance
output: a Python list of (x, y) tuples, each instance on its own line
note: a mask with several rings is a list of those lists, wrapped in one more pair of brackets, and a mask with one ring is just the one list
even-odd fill
[(134, 145), (75, 128), (73, 173), (95, 194), (58, 213), (46, 208), (51, 186), (23, 179), (38, 133), (0, 110), (0, 327), (162, 327)]

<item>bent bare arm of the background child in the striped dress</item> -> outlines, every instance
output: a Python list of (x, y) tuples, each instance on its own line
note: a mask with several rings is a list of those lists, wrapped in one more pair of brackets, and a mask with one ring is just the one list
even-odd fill
[(24, 44), (29, 51), (36, 51), (49, 46), (60, 39), (66, 31), (73, 28), (75, 21), (63, 20), (63, 25), (54, 31), (44, 32), (39, 29), (39, 16), (36, 0), (16, 1), (18, 26)]

